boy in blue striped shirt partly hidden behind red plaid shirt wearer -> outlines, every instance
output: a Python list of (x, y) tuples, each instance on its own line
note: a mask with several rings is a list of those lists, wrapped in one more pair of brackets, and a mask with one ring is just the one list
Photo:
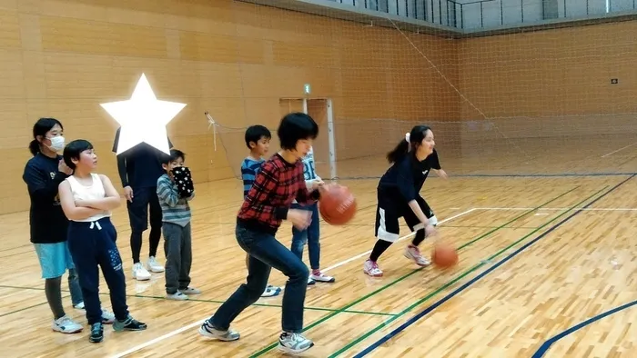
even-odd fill
[[(267, 127), (257, 124), (251, 125), (246, 130), (246, 145), (250, 150), (250, 154), (241, 163), (241, 179), (243, 180), (243, 197), (248, 196), (248, 192), (254, 184), (255, 177), (261, 169), (261, 164), (266, 160), (263, 159), (268, 154), (270, 139), (272, 134)], [(249, 254), (246, 254), (246, 268), (248, 268)], [(268, 283), (266, 291), (261, 297), (272, 297), (281, 293), (281, 288)]]

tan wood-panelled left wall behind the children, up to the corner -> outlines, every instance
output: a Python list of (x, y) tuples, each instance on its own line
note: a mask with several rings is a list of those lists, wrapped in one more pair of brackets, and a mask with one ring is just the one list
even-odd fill
[[(414, 35), (456, 77), (450, 40)], [(412, 54), (413, 56), (405, 56)], [(333, 99), (335, 118), (458, 119), (458, 96), (436, 80), (398, 32), (230, 0), (0, 0), (0, 214), (28, 209), (21, 176), (41, 116), (66, 138), (96, 146), (101, 173), (116, 183), (116, 122), (100, 103), (130, 97), (142, 72), (159, 99), (186, 103), (168, 125), (197, 182), (232, 176), (213, 149), (205, 111), (219, 124), (275, 127), (278, 99)], [(414, 75), (417, 73), (418, 75)], [(431, 100), (431, 98), (436, 100)], [(366, 138), (343, 134), (351, 156)], [(245, 151), (243, 143), (231, 149)]]

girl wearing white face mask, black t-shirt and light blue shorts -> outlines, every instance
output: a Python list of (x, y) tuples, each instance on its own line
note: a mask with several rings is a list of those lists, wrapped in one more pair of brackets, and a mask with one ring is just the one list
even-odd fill
[[(46, 301), (54, 315), (52, 329), (61, 333), (78, 333), (82, 325), (68, 317), (62, 306), (62, 275), (68, 269), (68, 286), (71, 300), (78, 309), (84, 309), (84, 299), (79, 286), (75, 265), (66, 244), (68, 220), (60, 205), (57, 186), (73, 171), (66, 166), (62, 155), (64, 128), (55, 118), (40, 118), (33, 127), (33, 141), (29, 151), (33, 158), (25, 165), (22, 178), (31, 199), (29, 221), (31, 243), (45, 279)], [(112, 323), (113, 313), (104, 312), (105, 322)]]

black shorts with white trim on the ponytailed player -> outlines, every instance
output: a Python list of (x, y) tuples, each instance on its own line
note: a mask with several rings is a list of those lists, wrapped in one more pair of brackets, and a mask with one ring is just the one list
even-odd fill
[[(399, 239), (400, 224), (399, 218), (404, 218), (405, 224), (412, 232), (424, 229), (420, 219), (411, 210), (410, 205), (400, 200), (395, 194), (386, 194), (379, 191), (379, 203), (376, 206), (376, 228), (375, 234), (379, 240), (394, 243)], [(420, 195), (416, 197), (420, 209), (429, 219), (433, 211), (430, 205)]]

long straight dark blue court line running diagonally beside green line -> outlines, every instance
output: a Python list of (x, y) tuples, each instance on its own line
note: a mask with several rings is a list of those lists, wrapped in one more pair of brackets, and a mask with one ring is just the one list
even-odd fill
[(499, 261), (496, 264), (493, 264), (489, 269), (485, 270), (484, 272), (480, 273), (479, 275), (475, 276), (474, 278), (472, 278), (469, 282), (462, 284), (460, 287), (458, 287), (456, 290), (454, 290), (453, 292), (447, 294), (445, 297), (441, 298), (439, 301), (437, 301), (436, 303), (431, 304), (429, 307), (427, 307), (426, 309), (424, 309), (423, 311), (421, 311), (420, 313), (416, 314), (415, 316), (411, 317), (410, 320), (408, 320), (405, 323), (402, 323), (398, 328), (394, 329), (393, 331), (391, 331), (390, 333), (386, 334), (384, 337), (380, 338), (378, 341), (371, 343), (367, 348), (365, 348), (363, 351), (361, 351), (360, 353), (356, 354), (354, 356), (354, 358), (359, 358), (359, 357), (364, 357), (365, 355), (371, 353), (373, 350), (375, 350), (376, 348), (378, 348), (380, 346), (380, 344), (385, 343), (387, 341), (389, 341), (391, 338), (393, 338), (394, 336), (396, 336), (398, 333), (404, 331), (407, 327), (409, 327), (411, 324), (416, 323), (418, 320), (420, 320), (420, 318), (424, 317), (425, 315), (427, 315), (428, 313), (432, 312), (433, 310), (435, 310), (436, 308), (438, 308), (442, 303), (445, 303), (447, 301), (449, 301), (451, 298), (453, 298), (455, 295), (457, 295), (458, 293), (461, 293), (462, 291), (466, 290), (468, 287), (470, 287), (470, 285), (472, 285), (473, 283), (477, 283), (478, 281), (480, 281), (481, 278), (483, 278), (484, 276), (486, 276), (487, 274), (493, 272), (493, 270), (497, 269), (498, 267), (500, 267), (502, 264), (506, 263), (507, 261), (511, 260), (511, 258), (517, 256), (518, 254), (520, 254), (522, 251), (526, 250), (527, 248), (529, 248), (532, 244), (537, 243), (538, 241), (540, 241), (543, 237), (545, 237), (546, 235), (550, 234), (552, 231), (554, 231), (555, 229), (557, 229), (558, 227), (560, 227), (562, 224), (568, 222), (569, 220), (571, 220), (573, 218), (573, 216), (580, 214), (584, 209), (588, 208), (589, 206), (591, 206), (592, 204), (595, 204), (597, 201), (599, 201), (600, 199), (602, 199), (602, 197), (611, 194), (615, 189), (619, 188), (622, 184), (628, 182), (629, 180), (631, 180), (636, 174), (632, 174), (631, 176), (629, 176), (627, 179), (623, 180), (621, 183), (613, 186), (611, 189), (609, 189), (606, 193), (598, 196), (595, 200), (591, 201), (591, 203), (584, 205), (584, 207), (582, 207), (581, 209), (577, 210), (576, 212), (574, 212), (573, 214), (567, 216), (566, 218), (564, 218), (560, 223), (558, 224), (554, 224), (553, 226), (551, 226), (551, 228), (549, 228), (547, 231), (545, 231), (544, 233), (540, 234), (538, 237), (536, 237), (535, 239), (531, 240), (529, 243), (522, 245), (518, 250), (514, 251), (513, 253), (509, 254), (507, 257), (503, 258), (501, 261)]

